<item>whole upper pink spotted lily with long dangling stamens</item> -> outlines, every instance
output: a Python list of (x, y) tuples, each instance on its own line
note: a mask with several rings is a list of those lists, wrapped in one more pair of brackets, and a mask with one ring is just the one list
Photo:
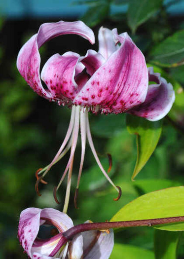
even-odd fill
[[(63, 55), (55, 54), (48, 59), (40, 76), (38, 49), (49, 39), (65, 34), (77, 34), (88, 39), (91, 44), (95, 42), (92, 30), (81, 21), (45, 23), (40, 26), (38, 33), (24, 44), (17, 58), (20, 74), (38, 95), (72, 109), (66, 137), (52, 162), (38, 172), (42, 175), (37, 176), (36, 188), (39, 182), (46, 183), (42, 178), (71, 148), (68, 164), (55, 189), (56, 193), (68, 173), (66, 199), (69, 200), (80, 125), (81, 161), (75, 201), (83, 167), (86, 137), (102, 173), (120, 196), (120, 188), (110, 180), (94, 148), (88, 111), (104, 114), (129, 112), (148, 120), (158, 120), (172, 107), (175, 99), (173, 87), (159, 74), (153, 73), (151, 68), (147, 70), (143, 53), (127, 33), (118, 35), (116, 29), (111, 31), (103, 27), (99, 30), (98, 52), (90, 49), (83, 57), (71, 51)], [(42, 86), (41, 79), (47, 89)], [(155, 81), (156, 84), (148, 86), (148, 80)], [(56, 197), (55, 199), (57, 200)]]

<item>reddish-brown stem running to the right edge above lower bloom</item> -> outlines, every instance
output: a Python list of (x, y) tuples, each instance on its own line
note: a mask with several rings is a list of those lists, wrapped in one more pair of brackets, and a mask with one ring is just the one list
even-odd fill
[(121, 228), (121, 227), (131, 227), (131, 226), (153, 226), (174, 222), (184, 222), (184, 216), (172, 217), (172, 218), (160, 218), (160, 219), (150, 219), (150, 220), (138, 220), (138, 221), (120, 221), (120, 222), (98, 222), (98, 223), (83, 223), (71, 227), (63, 233), (63, 236), (68, 240), (72, 240), (73, 237), (81, 232), (88, 230), (101, 230), (109, 228)]

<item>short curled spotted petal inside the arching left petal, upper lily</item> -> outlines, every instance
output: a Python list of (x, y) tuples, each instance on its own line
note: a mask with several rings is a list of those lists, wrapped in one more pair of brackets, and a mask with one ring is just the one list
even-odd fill
[(74, 99), (77, 84), (74, 81), (75, 68), (80, 56), (74, 52), (66, 52), (60, 56), (55, 54), (45, 63), (41, 71), (41, 79), (47, 85), (55, 101), (63, 97)]

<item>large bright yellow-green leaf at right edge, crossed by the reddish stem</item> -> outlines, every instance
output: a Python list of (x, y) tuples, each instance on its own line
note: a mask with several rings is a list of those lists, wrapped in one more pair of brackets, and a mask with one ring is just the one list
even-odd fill
[[(184, 216), (184, 186), (149, 192), (121, 208), (110, 221), (135, 221)], [(154, 226), (183, 231), (184, 222)]]

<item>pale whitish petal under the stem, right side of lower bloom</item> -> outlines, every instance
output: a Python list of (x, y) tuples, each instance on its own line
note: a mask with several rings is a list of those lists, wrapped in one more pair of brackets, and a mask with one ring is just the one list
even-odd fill
[(114, 245), (113, 230), (98, 231), (90, 230), (81, 233), (83, 237), (84, 259), (108, 259)]

